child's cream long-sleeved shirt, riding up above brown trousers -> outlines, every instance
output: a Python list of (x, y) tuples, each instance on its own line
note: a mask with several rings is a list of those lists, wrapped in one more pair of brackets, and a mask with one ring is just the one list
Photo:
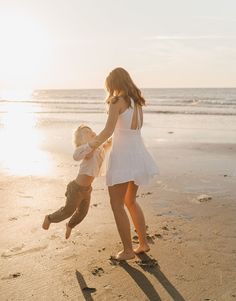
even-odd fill
[(105, 158), (105, 150), (103, 146), (95, 149), (91, 158), (85, 159), (85, 156), (89, 154), (93, 149), (89, 144), (82, 144), (74, 151), (73, 158), (76, 161), (82, 160), (80, 163), (79, 174), (92, 177), (99, 176), (99, 171), (102, 166), (102, 162)]

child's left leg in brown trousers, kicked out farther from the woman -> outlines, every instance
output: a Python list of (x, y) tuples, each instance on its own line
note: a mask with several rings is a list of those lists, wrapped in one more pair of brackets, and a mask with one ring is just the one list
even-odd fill
[(70, 217), (76, 210), (79, 198), (78, 184), (74, 181), (67, 185), (66, 190), (66, 204), (59, 210), (45, 217), (43, 228), (48, 229), (50, 223), (59, 223)]

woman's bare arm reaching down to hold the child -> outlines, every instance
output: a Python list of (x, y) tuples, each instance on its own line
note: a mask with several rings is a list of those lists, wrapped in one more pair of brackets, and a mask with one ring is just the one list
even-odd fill
[(104, 143), (109, 137), (111, 137), (116, 126), (120, 109), (120, 101), (110, 104), (105, 128), (99, 133), (99, 135), (96, 136), (96, 138), (93, 141), (89, 142), (90, 147), (95, 149), (99, 147), (102, 143)]

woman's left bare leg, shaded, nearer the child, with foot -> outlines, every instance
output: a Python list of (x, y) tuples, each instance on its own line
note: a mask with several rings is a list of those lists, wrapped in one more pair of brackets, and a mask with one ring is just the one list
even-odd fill
[(115, 259), (118, 260), (127, 260), (134, 258), (134, 251), (132, 248), (132, 240), (130, 233), (130, 223), (128, 215), (124, 208), (124, 198), (127, 191), (127, 187), (128, 183), (122, 183), (108, 187), (111, 207), (115, 217), (116, 226), (124, 246), (124, 250), (122, 252), (119, 252), (115, 256)]

